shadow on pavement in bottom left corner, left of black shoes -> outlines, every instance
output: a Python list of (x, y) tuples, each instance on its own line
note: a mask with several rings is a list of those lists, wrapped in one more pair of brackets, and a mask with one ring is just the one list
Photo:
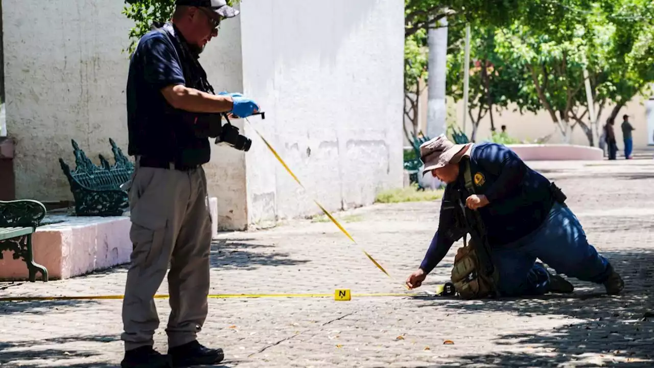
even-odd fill
[[(69, 342), (112, 342), (118, 340), (116, 335), (84, 335), (71, 337), (57, 337), (43, 340), (27, 340), (14, 342), (0, 342), (0, 365), (3, 367), (43, 367), (52, 364), (61, 367), (115, 367), (108, 361), (94, 361), (93, 363), (68, 363), (71, 359), (90, 358), (100, 355), (101, 349), (71, 350), (58, 348), (57, 345)], [(52, 366), (52, 365), (48, 365)]]

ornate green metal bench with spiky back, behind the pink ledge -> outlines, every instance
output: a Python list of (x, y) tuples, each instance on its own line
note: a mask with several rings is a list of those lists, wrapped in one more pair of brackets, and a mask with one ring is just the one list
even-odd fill
[(120, 185), (129, 181), (134, 165), (123, 155), (113, 139), (109, 139), (115, 164), (100, 155), (101, 166), (96, 166), (80, 149), (75, 139), (73, 154), (75, 170), (59, 159), (75, 198), (75, 214), (78, 216), (120, 216), (129, 207), (129, 198)]

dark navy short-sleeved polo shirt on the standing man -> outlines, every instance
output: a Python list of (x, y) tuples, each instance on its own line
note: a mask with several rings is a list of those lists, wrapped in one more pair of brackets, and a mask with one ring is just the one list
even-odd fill
[(189, 86), (181, 64), (175, 44), (160, 31), (150, 31), (139, 41), (129, 63), (126, 92), (129, 155), (184, 164), (209, 160), (208, 139), (196, 137), (192, 125), (184, 124), (184, 111), (174, 109), (161, 93), (165, 86)]

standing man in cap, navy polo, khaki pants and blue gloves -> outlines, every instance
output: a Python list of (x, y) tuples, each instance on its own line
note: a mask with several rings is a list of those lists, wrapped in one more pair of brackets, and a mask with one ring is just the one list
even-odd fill
[[(171, 22), (139, 41), (127, 85), (129, 155), (136, 169), (129, 187), (133, 242), (122, 308), (122, 367), (185, 367), (222, 361), (196, 335), (207, 317), (211, 218), (202, 165), (209, 161), (219, 113), (258, 111), (241, 94), (213, 94), (198, 62), (224, 18), (239, 12), (225, 0), (177, 0)], [(214, 113), (209, 126), (200, 128)], [(202, 120), (198, 120), (201, 117)], [(168, 265), (171, 313), (168, 355), (152, 348), (159, 327), (154, 295)]]

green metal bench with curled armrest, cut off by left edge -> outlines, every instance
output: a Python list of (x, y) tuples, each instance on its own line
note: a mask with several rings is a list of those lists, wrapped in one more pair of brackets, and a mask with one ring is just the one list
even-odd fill
[(29, 270), (29, 281), (35, 282), (37, 272), (48, 281), (48, 270), (34, 261), (32, 234), (45, 217), (46, 208), (36, 200), (0, 200), (0, 259), (3, 251), (13, 251), (14, 259), (22, 258)]

